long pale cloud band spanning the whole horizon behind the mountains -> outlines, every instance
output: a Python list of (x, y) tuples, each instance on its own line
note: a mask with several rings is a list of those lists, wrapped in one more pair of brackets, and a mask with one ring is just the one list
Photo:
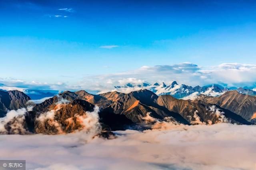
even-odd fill
[[(113, 48), (102, 46), (102, 48)], [(176, 80), (179, 84), (189, 86), (203, 86), (208, 84), (222, 84), (226, 87), (256, 88), (256, 65), (223, 63), (218, 66), (198, 66), (192, 63), (180, 63), (173, 65), (142, 66), (136, 70), (119, 72), (114, 74), (85, 75), (83, 80), (76, 82), (41, 83), (36, 80), (26, 82), (14, 78), (0, 78), (0, 89), (40, 89), (40, 90), (93, 90), (107, 92), (114, 86), (123, 86), (131, 83), (133, 85), (144, 82), (166, 82), (167, 84)], [(119, 89), (121, 92), (130, 92), (138, 89)]]

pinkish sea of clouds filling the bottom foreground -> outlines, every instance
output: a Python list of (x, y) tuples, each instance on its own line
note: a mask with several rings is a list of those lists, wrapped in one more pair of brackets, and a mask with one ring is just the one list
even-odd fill
[(6, 159), (25, 159), (31, 170), (252, 170), (255, 128), (228, 123), (176, 125), (161, 131), (116, 131), (116, 139), (90, 142), (79, 133), (0, 135), (0, 146)]

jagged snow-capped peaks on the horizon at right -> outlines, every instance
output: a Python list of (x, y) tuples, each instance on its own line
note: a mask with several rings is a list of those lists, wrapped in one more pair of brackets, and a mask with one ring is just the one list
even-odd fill
[(177, 99), (195, 99), (196, 96), (199, 96), (200, 94), (204, 94), (206, 96), (220, 96), (224, 92), (227, 92), (228, 90), (237, 90), (238, 92), (242, 94), (248, 94), (251, 96), (256, 96), (256, 92), (253, 90), (250, 90), (248, 88), (225, 88), (219, 84), (211, 84), (208, 86), (187, 86), (186, 84), (179, 85), (176, 81), (172, 82), (171, 84), (165, 84), (162, 82), (161, 84), (154, 83), (142, 83), (139, 85), (133, 85), (131, 83), (128, 83), (124, 86), (114, 86), (114, 88), (117, 91), (122, 91), (123, 89), (148, 89), (152, 92), (154, 92), (157, 95), (171, 95), (174, 98)]

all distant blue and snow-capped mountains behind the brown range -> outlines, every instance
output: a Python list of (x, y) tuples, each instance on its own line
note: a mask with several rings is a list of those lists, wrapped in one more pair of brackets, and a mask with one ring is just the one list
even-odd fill
[[(114, 86), (112, 90), (109, 91), (117, 91), (117, 92), (123, 92), (123, 93), (129, 93), (132, 91), (136, 90), (143, 90), (147, 89), (158, 96), (161, 95), (171, 95), (174, 98), (177, 99), (184, 99), (184, 100), (194, 100), (196, 99), (197, 96), (200, 94), (204, 94), (206, 96), (220, 96), (224, 92), (227, 92), (229, 90), (237, 90), (241, 94), (248, 94), (250, 96), (256, 96), (256, 91), (254, 91), (256, 88), (248, 88), (247, 86), (245, 87), (223, 87), (220, 84), (210, 84), (207, 86), (188, 86), (186, 84), (178, 84), (176, 81), (173, 81), (170, 84), (166, 84), (164, 82), (162, 83), (154, 83), (150, 84), (147, 82), (144, 82), (142, 84), (133, 84), (133, 83), (127, 83), (124, 86)], [(5, 91), (0, 88), (0, 91)], [(102, 92), (97, 91), (97, 90), (86, 90), (90, 94), (100, 94)], [(52, 96), (55, 96), (59, 93), (58, 90), (24, 90), (23, 91), (26, 95), (28, 95), (32, 100), (38, 100), (40, 101), (43, 98), (49, 98)]]

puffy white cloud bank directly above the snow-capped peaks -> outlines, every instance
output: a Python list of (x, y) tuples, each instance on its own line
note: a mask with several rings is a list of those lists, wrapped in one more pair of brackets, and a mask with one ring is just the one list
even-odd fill
[[(90, 76), (86, 76), (85, 79), (89, 77)], [(128, 80), (130, 80), (130, 83), (134, 83), (134, 80), (140, 80), (140, 82), (150, 82), (151, 84), (154, 84), (155, 82), (158, 82), (159, 84), (161, 82), (166, 82), (168, 84), (176, 80), (179, 82), (179, 84), (186, 84), (189, 86), (204, 86), (208, 84), (219, 83), (226, 87), (255, 87), (256, 83), (254, 80), (256, 80), (256, 65), (224, 63), (218, 66), (204, 67), (192, 63), (181, 63), (174, 65), (142, 66), (137, 70), (131, 70), (117, 74), (101, 75), (96, 77), (101, 79), (98, 89), (102, 88), (105, 92), (113, 90), (113, 87), (111, 87), (110, 84), (104, 87), (101, 86), (105, 78), (112, 80), (112, 86), (122, 86), (123, 83), (120, 82), (123, 81), (120, 80), (125, 79), (127, 80), (127, 83), (129, 83)], [(130, 90), (122, 88), (114, 90), (127, 92), (136, 89), (132, 87)], [(221, 94), (214, 94), (209, 89), (207, 95), (218, 96)]]

